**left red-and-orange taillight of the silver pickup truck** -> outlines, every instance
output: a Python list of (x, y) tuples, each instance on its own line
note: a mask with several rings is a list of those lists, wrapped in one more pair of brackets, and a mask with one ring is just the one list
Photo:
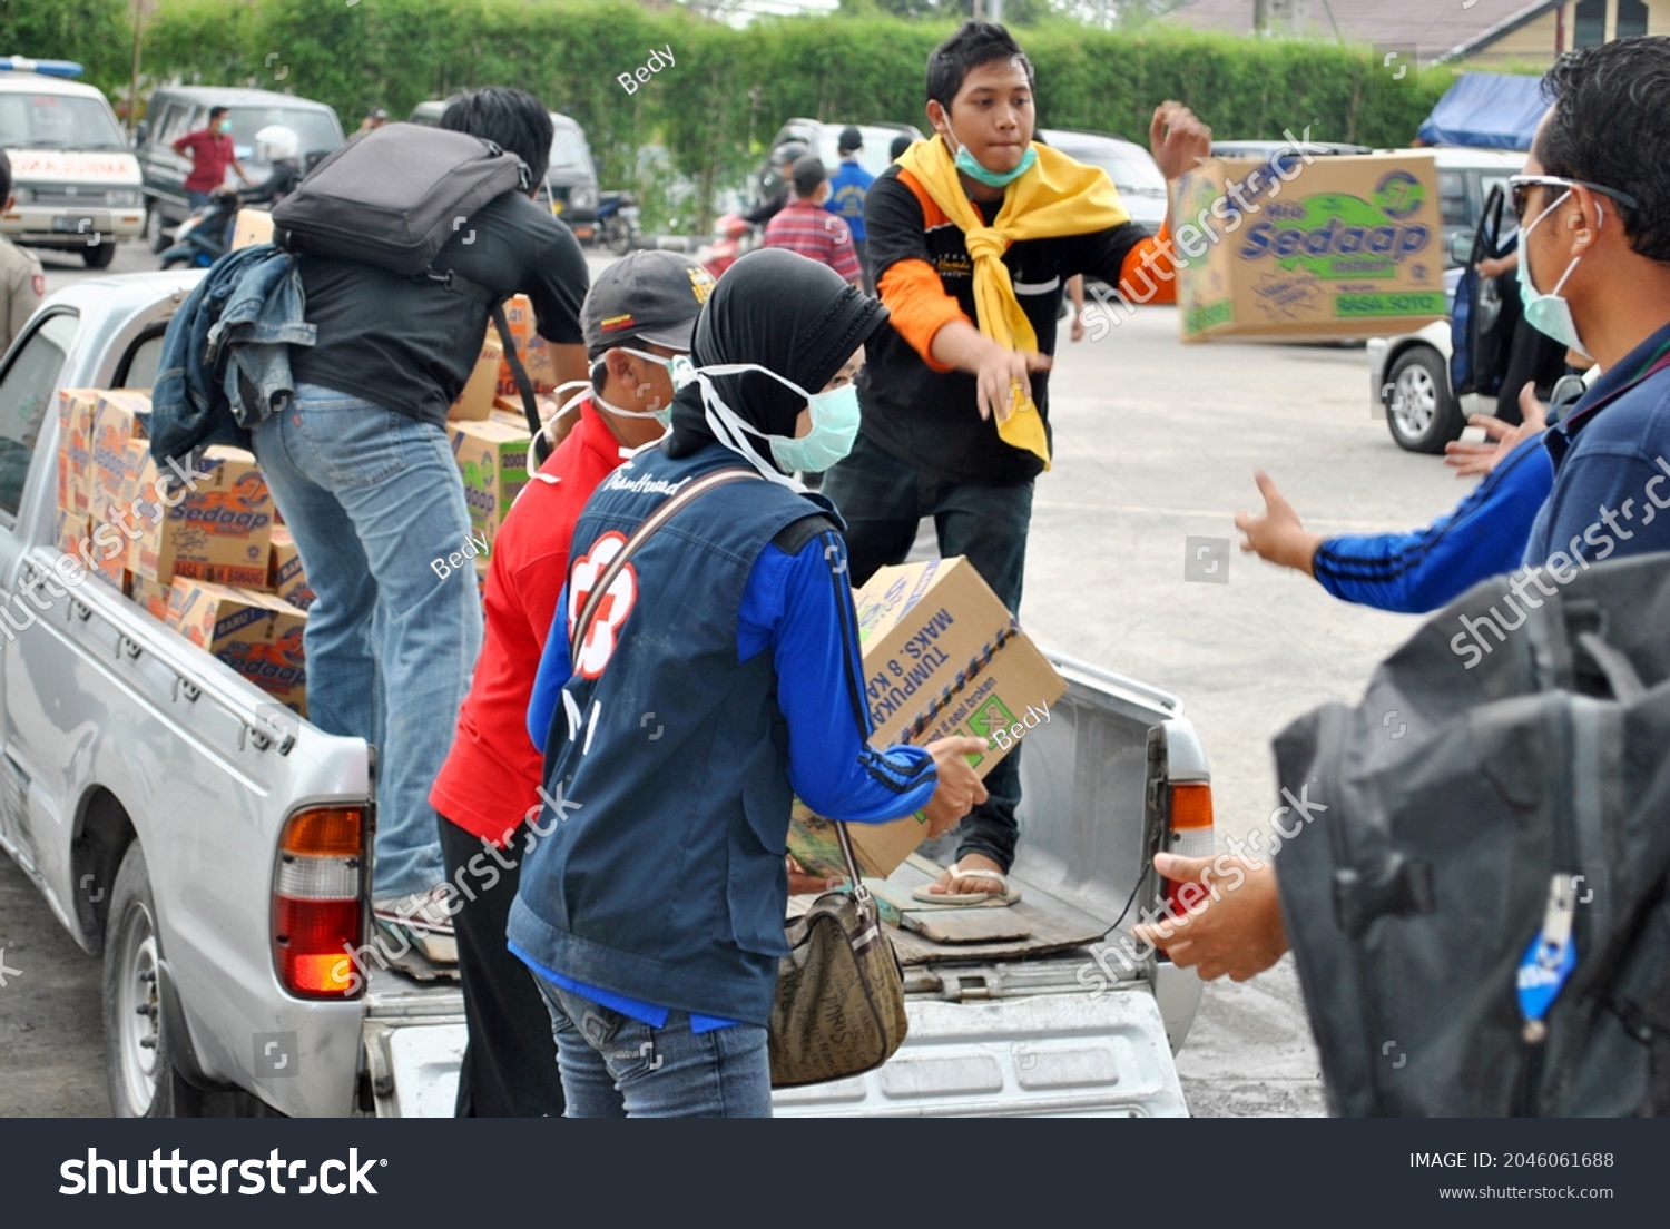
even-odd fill
[(359, 994), (352, 953), (362, 942), (364, 870), (366, 812), (359, 807), (317, 807), (284, 825), (272, 872), (272, 958), (291, 994)]

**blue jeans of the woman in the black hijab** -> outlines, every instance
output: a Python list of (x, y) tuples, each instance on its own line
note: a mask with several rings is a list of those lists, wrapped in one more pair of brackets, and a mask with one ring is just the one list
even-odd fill
[(529, 974), (551, 1009), (556, 1065), (571, 1119), (768, 1119), (765, 1029), (690, 1032), (686, 1012), (648, 1024)]

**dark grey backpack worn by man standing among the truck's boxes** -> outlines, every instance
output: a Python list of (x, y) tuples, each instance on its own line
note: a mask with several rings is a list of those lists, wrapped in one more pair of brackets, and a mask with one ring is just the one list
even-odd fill
[(272, 242), (289, 252), (431, 277), (488, 306), (534, 434), (534, 458), (543, 461), (549, 448), (533, 381), (516, 354), (499, 296), (468, 277), (433, 267), (441, 247), (478, 209), (529, 187), (528, 164), (491, 140), (421, 124), (386, 124), (349, 140), (307, 172), (272, 209)]

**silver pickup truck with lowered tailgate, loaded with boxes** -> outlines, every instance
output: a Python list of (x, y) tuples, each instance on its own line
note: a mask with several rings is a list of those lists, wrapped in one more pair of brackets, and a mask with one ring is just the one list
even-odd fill
[[(104, 960), (114, 1114), (451, 1114), (456, 984), (407, 963), (312, 989), (344, 933), (369, 937), (374, 751), (57, 569), (57, 391), (149, 387), (197, 277), (80, 282), (0, 364), (0, 847)], [(910, 1039), (865, 1077), (780, 1092), (780, 1114), (1187, 1112), (1172, 1052), (1199, 980), (1094, 948), (1159, 903), (1154, 850), (1209, 848), (1174, 825), (1181, 792), (1209, 815), (1206, 760), (1174, 696), (1052, 660), (1067, 695), (1022, 763), (1025, 898), (895, 913)], [(908, 902), (924, 873), (883, 892)]]

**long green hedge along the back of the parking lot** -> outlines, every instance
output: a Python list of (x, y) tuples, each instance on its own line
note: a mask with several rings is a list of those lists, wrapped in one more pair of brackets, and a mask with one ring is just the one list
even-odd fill
[[(125, 22), (120, 13), (130, 12), (107, 0), (10, 0), (0, 13), (58, 3), (109, 10), (102, 22)], [(336, 107), (349, 129), (371, 107), (404, 115), (463, 87), (519, 85), (586, 129), (606, 187), (656, 199), (665, 185), (640, 174), (638, 149), (660, 142), (711, 200), (743, 180), (792, 115), (927, 130), (924, 65), (954, 25), (832, 15), (733, 30), (683, 8), (621, 0), (160, 0), (144, 32), (144, 68), (154, 82), (177, 75), (292, 90)], [(1040, 124), (1142, 144), (1154, 104), (1177, 99), (1224, 137), (1279, 137), (1309, 124), (1314, 139), (1404, 145), (1453, 78), (1428, 70), (1393, 83), (1368, 48), (1323, 42), (1152, 25), (1109, 33), (1064, 22), (1019, 33), (1037, 65)], [(122, 37), (119, 48), (130, 45)], [(618, 73), (668, 43), (675, 65), (628, 94)], [(43, 43), (33, 53), (70, 50)], [(124, 89), (125, 63), (110, 58), (99, 60), (97, 75), (114, 80), (100, 83)]]

